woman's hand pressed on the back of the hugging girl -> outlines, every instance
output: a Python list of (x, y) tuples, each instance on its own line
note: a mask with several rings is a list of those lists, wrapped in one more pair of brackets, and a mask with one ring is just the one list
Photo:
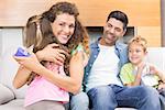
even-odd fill
[(55, 43), (47, 45), (42, 51), (36, 52), (38, 61), (48, 61), (54, 62), (57, 65), (63, 65), (65, 61), (65, 52), (61, 50), (59, 46)]

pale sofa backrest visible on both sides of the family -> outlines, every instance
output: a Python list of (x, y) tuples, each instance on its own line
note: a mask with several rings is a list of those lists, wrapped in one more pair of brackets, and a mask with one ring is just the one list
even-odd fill
[[(14, 89), (12, 86), (13, 77), (16, 74), (19, 64), (13, 59), (12, 55), (18, 47), (12, 46), (4, 51), (1, 56), (0, 82), (9, 87), (16, 98), (24, 98), (26, 86), (21, 89)], [(156, 65), (165, 74), (165, 47), (150, 47), (146, 61)]]

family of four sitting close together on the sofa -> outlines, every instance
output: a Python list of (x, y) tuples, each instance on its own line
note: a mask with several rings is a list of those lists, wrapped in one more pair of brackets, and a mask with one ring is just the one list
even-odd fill
[(25, 109), (164, 110), (165, 74), (145, 63), (146, 40), (134, 36), (128, 46), (118, 42), (127, 32), (127, 14), (110, 12), (90, 52), (78, 14), (75, 4), (58, 2), (29, 19), (25, 45), (33, 51), (13, 56), (20, 64), (13, 86), (29, 84)]

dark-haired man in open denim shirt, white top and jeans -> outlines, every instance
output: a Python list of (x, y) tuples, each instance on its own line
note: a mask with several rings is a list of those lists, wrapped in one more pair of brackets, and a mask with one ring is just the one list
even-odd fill
[[(92, 110), (114, 110), (117, 107), (161, 110), (156, 90), (142, 86), (123, 87), (118, 77), (121, 66), (128, 62), (127, 45), (118, 42), (127, 32), (127, 14), (112, 11), (108, 15), (102, 36), (90, 46), (91, 55), (86, 66), (84, 85)], [(80, 95), (84, 94), (73, 96), (70, 106), (80, 103)], [(84, 101), (84, 105), (87, 106), (87, 102)]]

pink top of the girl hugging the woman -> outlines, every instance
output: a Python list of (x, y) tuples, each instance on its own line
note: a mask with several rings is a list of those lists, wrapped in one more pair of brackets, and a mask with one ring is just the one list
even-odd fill
[[(63, 66), (46, 63), (45, 67), (52, 72), (58, 72), (58, 74), (66, 76)], [(31, 82), (26, 91), (24, 106), (26, 107), (41, 100), (68, 102), (69, 95), (67, 91), (46, 80), (44, 77), (38, 76)]]

